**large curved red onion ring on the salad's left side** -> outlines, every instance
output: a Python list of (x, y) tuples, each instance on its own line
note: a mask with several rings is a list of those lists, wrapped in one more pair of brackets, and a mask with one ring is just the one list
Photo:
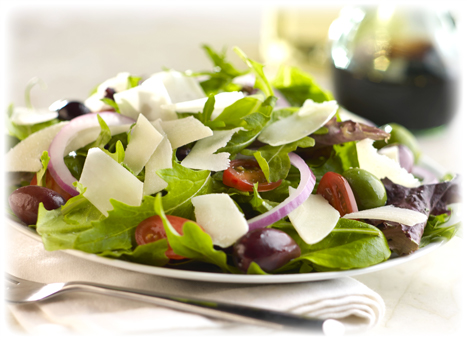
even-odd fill
[(63, 190), (73, 196), (79, 194), (73, 186), (73, 183), (76, 182), (77, 179), (73, 177), (70, 170), (68, 170), (65, 165), (65, 161), (63, 160), (65, 149), (81, 131), (99, 126), (97, 114), (101, 116), (108, 126), (131, 124), (135, 122), (132, 118), (122, 116), (115, 112), (88, 113), (70, 120), (70, 123), (60, 130), (49, 146), (48, 152), (50, 161), (47, 169), (55, 182), (57, 182)]

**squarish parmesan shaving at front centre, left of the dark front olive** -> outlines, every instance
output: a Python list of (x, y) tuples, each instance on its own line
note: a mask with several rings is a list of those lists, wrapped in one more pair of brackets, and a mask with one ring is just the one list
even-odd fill
[(248, 232), (248, 223), (227, 194), (208, 194), (191, 199), (196, 223), (222, 248), (233, 245)]

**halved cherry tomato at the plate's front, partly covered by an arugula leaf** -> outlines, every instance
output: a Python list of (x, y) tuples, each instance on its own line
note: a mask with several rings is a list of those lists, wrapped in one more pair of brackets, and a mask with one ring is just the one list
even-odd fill
[[(186, 218), (167, 215), (167, 219), (169, 220), (170, 224), (174, 227), (174, 229), (180, 234), (183, 234), (183, 224), (185, 222), (193, 222)], [(156, 242), (160, 239), (167, 238), (167, 234), (165, 233), (164, 225), (162, 223), (162, 219), (155, 215), (151, 216), (144, 221), (142, 221), (135, 230), (135, 239), (138, 245), (143, 245), (151, 242)], [(168, 249), (165, 252), (165, 255), (169, 259), (173, 260), (182, 260), (185, 257), (175, 254), (173, 249), (168, 245)]]

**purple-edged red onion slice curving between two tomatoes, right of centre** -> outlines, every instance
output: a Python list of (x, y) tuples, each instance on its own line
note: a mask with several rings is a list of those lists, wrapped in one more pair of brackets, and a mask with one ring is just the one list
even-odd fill
[(300, 184), (297, 190), (290, 195), (281, 204), (277, 205), (268, 212), (249, 219), (248, 226), (250, 230), (267, 227), (274, 222), (287, 216), (290, 212), (295, 210), (310, 196), (316, 184), (316, 177), (311, 171), (310, 167), (305, 161), (293, 152), (289, 153), (290, 163), (300, 171)]

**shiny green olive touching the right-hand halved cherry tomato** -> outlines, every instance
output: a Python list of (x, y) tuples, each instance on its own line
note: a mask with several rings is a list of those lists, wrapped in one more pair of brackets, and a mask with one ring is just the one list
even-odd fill
[(381, 207), (387, 195), (383, 183), (372, 173), (363, 169), (349, 169), (342, 174), (352, 188), (358, 210)]

